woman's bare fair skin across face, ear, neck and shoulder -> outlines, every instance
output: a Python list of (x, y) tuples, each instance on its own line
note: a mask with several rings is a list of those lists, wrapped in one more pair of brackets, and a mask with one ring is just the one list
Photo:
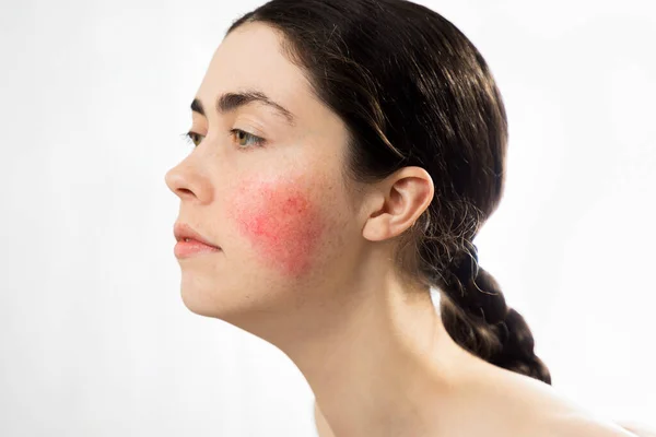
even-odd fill
[[(315, 393), (321, 437), (539, 436), (583, 417), (548, 386), (462, 350), (429, 292), (399, 279), (395, 237), (433, 199), (430, 175), (406, 167), (347, 190), (345, 126), (280, 42), (259, 23), (222, 42), (196, 94), (206, 109), (192, 113), (197, 146), (166, 174), (178, 221), (222, 248), (178, 260), (185, 305), (285, 353)], [(214, 110), (221, 94), (250, 88), (293, 126), (261, 104)], [(630, 435), (612, 433), (589, 435)]]

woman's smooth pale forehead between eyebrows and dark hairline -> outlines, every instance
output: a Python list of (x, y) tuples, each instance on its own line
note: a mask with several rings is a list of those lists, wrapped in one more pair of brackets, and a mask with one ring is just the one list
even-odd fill
[(262, 23), (234, 29), (214, 51), (197, 95), (213, 102), (225, 92), (261, 90), (293, 114), (302, 114), (298, 102), (312, 97), (309, 83), (282, 54), (281, 38), (280, 33)]

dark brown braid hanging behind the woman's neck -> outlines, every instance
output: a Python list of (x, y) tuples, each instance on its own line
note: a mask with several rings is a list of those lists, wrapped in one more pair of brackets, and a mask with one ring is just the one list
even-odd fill
[(477, 247), (466, 241), (442, 272), (441, 314), (454, 340), (481, 358), (551, 385), (547, 366), (534, 353), (526, 321), (508, 308), (494, 277), (478, 264)]

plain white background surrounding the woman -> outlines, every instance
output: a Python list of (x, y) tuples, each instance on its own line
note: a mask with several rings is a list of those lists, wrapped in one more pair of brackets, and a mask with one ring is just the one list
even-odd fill
[[(423, 3), (481, 50), (508, 111), (481, 265), (560, 392), (656, 424), (654, 2)], [(258, 4), (2, 2), (1, 436), (315, 435), (293, 363), (191, 314), (173, 256), (164, 174), (214, 49)]]

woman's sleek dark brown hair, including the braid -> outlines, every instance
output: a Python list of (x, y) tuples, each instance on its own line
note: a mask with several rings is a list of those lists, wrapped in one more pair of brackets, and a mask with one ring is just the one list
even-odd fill
[(399, 272), (442, 291), (462, 347), (551, 383), (524, 318), (478, 264), (473, 238), (502, 197), (504, 105), (472, 43), (438, 13), (402, 0), (272, 0), (235, 21), (283, 36), (281, 49), (345, 123), (349, 189), (420, 166), (435, 196), (399, 238)]

